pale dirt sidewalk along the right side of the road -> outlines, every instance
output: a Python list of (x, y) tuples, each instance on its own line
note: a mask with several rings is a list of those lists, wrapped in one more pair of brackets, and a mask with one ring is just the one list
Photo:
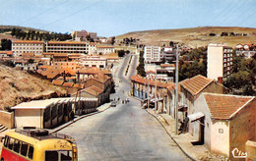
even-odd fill
[(168, 114), (157, 114), (154, 109), (146, 109), (148, 113), (153, 115), (160, 122), (165, 132), (173, 139), (178, 147), (192, 160), (228, 160), (224, 156), (218, 156), (210, 153), (204, 145), (192, 145), (190, 140), (193, 136), (189, 133), (175, 134), (175, 120)]

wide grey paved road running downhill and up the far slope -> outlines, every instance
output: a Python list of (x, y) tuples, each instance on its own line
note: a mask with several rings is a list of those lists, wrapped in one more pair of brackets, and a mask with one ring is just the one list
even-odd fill
[[(117, 93), (112, 95), (114, 97), (125, 98), (129, 89), (127, 80), (130, 76), (123, 77), (119, 72), (125, 69), (128, 58), (129, 55), (116, 72), (116, 79), (122, 82)], [(137, 59), (135, 57), (134, 60)], [(75, 137), (79, 160), (188, 160), (165, 134), (160, 123), (141, 109), (140, 102), (133, 98), (127, 104), (119, 103), (116, 107), (84, 118), (60, 133)]]

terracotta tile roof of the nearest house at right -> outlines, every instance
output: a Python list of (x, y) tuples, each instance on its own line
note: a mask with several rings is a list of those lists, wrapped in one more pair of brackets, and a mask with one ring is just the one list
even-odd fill
[(216, 93), (204, 93), (206, 103), (212, 119), (230, 119), (247, 103), (255, 99), (254, 96), (238, 96)]

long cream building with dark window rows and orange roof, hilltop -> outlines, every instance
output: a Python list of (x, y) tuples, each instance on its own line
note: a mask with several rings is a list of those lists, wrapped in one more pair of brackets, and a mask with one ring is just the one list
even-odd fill
[(48, 41), (45, 42), (45, 52), (88, 54), (89, 43), (78, 41)]

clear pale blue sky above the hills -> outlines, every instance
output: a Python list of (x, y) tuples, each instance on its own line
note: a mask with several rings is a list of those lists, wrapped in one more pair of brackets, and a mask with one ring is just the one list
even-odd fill
[(99, 36), (185, 27), (256, 27), (256, 0), (0, 0), (0, 25)]

